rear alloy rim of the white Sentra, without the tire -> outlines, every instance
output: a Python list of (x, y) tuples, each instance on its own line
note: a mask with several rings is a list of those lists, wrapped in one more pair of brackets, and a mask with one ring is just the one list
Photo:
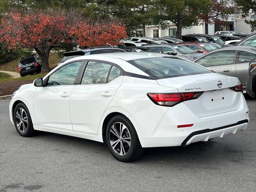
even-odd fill
[(116, 122), (112, 125), (109, 132), (110, 145), (114, 152), (120, 156), (126, 155), (131, 147), (131, 136), (128, 128)]

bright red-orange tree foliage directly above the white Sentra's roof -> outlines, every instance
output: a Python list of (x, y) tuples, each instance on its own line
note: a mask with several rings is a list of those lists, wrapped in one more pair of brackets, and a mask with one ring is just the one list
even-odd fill
[(83, 47), (117, 45), (120, 39), (127, 38), (125, 26), (118, 20), (87, 18), (77, 22), (69, 31)]

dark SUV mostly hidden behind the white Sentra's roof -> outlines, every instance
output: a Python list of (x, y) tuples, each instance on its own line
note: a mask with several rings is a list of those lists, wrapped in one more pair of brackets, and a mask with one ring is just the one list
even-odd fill
[(100, 54), (100, 53), (116, 53), (116, 52), (126, 52), (125, 50), (122, 50), (120, 48), (114, 48), (114, 47), (91, 47), (88, 49), (81, 49), (81, 50), (74, 50), (70, 52), (65, 52), (63, 55), (64, 57), (58, 65), (62, 64), (63, 62), (81, 56), (81, 55), (92, 55), (92, 54)]

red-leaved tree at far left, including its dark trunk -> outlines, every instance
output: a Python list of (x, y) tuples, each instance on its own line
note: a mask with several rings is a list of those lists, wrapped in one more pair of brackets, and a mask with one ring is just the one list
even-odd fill
[[(61, 11), (11, 12), (2, 18), (0, 34), (9, 48), (32, 48), (40, 56), (42, 71), (49, 71), (50, 50), (68, 39), (66, 16)], [(8, 31), (15, 31), (14, 34)]]

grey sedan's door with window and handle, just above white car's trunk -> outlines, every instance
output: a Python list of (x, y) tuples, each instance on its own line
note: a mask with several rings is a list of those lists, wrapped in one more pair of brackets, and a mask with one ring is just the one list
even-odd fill
[(207, 54), (195, 62), (220, 74), (236, 77), (234, 63), (236, 51), (218, 51)]

